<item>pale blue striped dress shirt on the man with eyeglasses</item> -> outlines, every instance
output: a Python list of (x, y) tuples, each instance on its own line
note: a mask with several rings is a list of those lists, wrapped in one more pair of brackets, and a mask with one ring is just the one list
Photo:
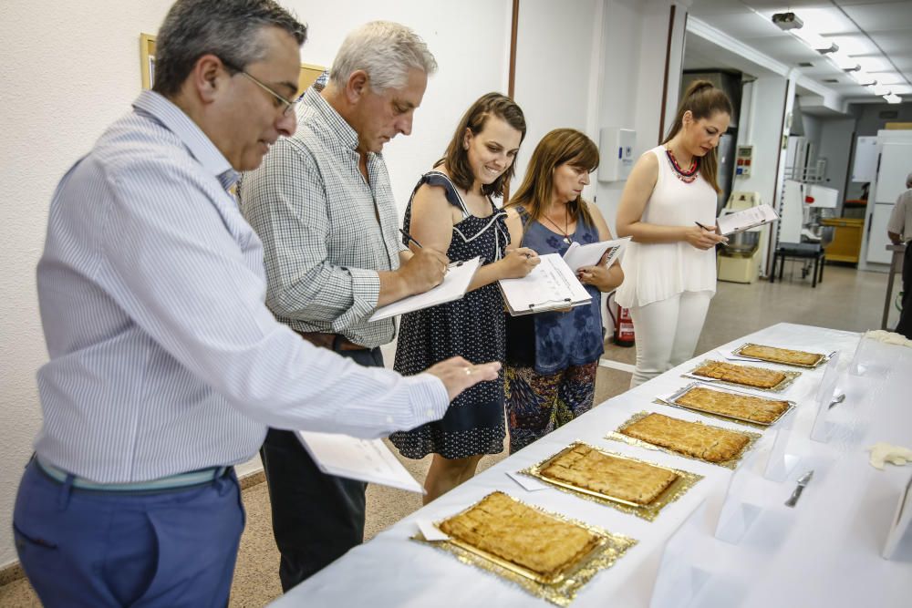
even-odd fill
[(51, 202), (42, 459), (145, 481), (250, 459), (267, 426), (378, 437), (444, 414), (438, 378), (357, 366), (277, 323), (262, 244), (226, 191), (237, 174), (166, 98), (133, 108)]

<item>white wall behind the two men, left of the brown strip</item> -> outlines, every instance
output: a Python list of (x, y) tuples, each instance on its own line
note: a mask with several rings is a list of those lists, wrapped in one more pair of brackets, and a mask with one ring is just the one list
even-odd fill
[[(302, 60), (328, 65), (354, 26), (376, 18), (414, 27), (440, 64), (413, 134), (387, 156), (404, 208), (423, 170), (440, 157), (461, 113), (483, 93), (506, 90), (509, 0), (285, 0), (310, 26)], [(0, 567), (16, 559), (10, 533), (16, 487), (40, 425), (35, 372), (47, 360), (35, 266), (57, 180), (140, 91), (140, 32), (154, 34), (171, 0), (57, 3), (6, 0), (0, 19)]]

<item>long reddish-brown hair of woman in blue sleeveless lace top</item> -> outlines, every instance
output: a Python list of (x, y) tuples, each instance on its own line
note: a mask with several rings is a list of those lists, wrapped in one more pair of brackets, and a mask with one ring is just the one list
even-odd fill
[[(554, 170), (563, 164), (570, 164), (588, 171), (598, 167), (598, 147), (596, 143), (576, 129), (554, 129), (544, 136), (529, 160), (523, 184), (506, 204), (506, 207), (522, 205), (532, 220), (544, 215), (544, 210), (551, 204), (554, 191)], [(593, 225), (592, 214), (582, 196), (567, 203), (567, 212), (577, 222)]]

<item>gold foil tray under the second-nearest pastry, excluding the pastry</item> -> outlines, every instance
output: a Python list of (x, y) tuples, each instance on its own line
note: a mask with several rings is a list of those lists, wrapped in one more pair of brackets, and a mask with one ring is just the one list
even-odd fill
[[(551, 479), (550, 477), (542, 475), (542, 471), (544, 469), (547, 469), (555, 459), (559, 459), (560, 457), (564, 456), (566, 452), (569, 452), (578, 445), (595, 449), (597, 452), (616, 459), (633, 460), (634, 462), (648, 464), (650, 467), (655, 467), (656, 469), (671, 471), (677, 476), (677, 479), (672, 481), (668, 488), (662, 490), (662, 493), (659, 494), (655, 500), (649, 502), (648, 504), (641, 505), (637, 502), (619, 499), (616, 496), (604, 494), (593, 489), (579, 488), (572, 483), (567, 483), (565, 481), (561, 481), (560, 479)], [(630, 515), (636, 515), (638, 518), (647, 521), (655, 520), (662, 509), (664, 509), (668, 504), (684, 496), (684, 494), (686, 494), (689, 489), (693, 488), (697, 482), (700, 481), (700, 479), (703, 479), (702, 475), (697, 475), (696, 473), (691, 473), (689, 471), (680, 469), (671, 469), (670, 467), (662, 467), (661, 465), (657, 465), (654, 462), (649, 462), (648, 460), (635, 459), (619, 452), (599, 449), (587, 444), (584, 441), (579, 440), (574, 441), (566, 448), (554, 454), (554, 456), (544, 459), (538, 464), (535, 464), (528, 469), (523, 469), (520, 472), (523, 473), (523, 475), (528, 475), (529, 477), (534, 477), (535, 479), (544, 481), (544, 483), (548, 483), (557, 489), (564, 490), (567, 493), (575, 494), (580, 498), (592, 500), (593, 502), (612, 507), (624, 513), (629, 513)]]

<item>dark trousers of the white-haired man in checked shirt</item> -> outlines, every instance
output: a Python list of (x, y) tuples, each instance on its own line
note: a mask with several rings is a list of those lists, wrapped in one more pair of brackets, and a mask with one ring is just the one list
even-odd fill
[[(383, 366), (379, 348), (337, 353), (361, 366)], [(260, 457), (282, 553), (279, 578), (287, 592), (364, 541), (368, 484), (320, 472), (292, 431), (270, 428)]]

